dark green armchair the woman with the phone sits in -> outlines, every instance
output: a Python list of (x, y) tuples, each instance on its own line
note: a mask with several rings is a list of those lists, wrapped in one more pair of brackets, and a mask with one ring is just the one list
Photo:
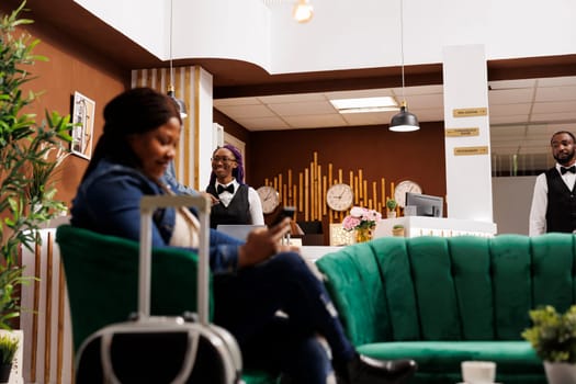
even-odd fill
[[(57, 228), (56, 242), (66, 275), (74, 348), (78, 351), (91, 334), (126, 321), (136, 312), (139, 246), (70, 225)], [(151, 315), (179, 316), (196, 310), (196, 255), (183, 249), (153, 249)], [(212, 296), (210, 306), (212, 314)], [(276, 382), (274, 376), (257, 370), (245, 370), (242, 380), (247, 384)]]

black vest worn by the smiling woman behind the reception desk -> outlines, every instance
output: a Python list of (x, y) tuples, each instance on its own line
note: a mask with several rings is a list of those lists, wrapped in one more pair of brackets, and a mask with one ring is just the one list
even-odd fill
[[(208, 185), (206, 192), (218, 199), (216, 188)], [(228, 206), (224, 204), (212, 205), (210, 212), (210, 227), (216, 228), (218, 224), (252, 224), (250, 216), (250, 202), (248, 201), (248, 185), (240, 184)]]

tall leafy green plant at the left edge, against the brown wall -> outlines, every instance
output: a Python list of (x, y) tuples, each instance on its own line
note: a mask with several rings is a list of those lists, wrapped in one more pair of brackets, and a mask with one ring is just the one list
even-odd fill
[[(50, 174), (61, 161), (55, 156), (67, 151), (72, 124), (69, 116), (48, 113), (42, 124), (25, 112), (38, 93), (24, 93), (31, 66), (45, 57), (33, 54), (39, 43), (26, 33), (15, 35), (15, 27), (32, 23), (19, 19), (25, 1), (0, 20), (0, 328), (11, 329), (20, 315), (19, 285), (26, 282), (18, 264), (21, 246), (33, 250), (41, 241), (35, 230), (65, 208), (54, 200)], [(33, 208), (34, 207), (34, 208)]]

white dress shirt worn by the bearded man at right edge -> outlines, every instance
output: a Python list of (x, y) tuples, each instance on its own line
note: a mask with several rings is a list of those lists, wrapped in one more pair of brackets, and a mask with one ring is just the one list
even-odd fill
[[(573, 165), (569, 165), (573, 166)], [(569, 167), (568, 166), (568, 167)], [(572, 191), (576, 181), (576, 173), (566, 172), (562, 174), (556, 163), (556, 171), (561, 174), (566, 187)], [(540, 173), (534, 184), (534, 194), (532, 195), (532, 207), (530, 208), (529, 235), (538, 236), (546, 233), (546, 211), (547, 211), (547, 182), (546, 174)]]

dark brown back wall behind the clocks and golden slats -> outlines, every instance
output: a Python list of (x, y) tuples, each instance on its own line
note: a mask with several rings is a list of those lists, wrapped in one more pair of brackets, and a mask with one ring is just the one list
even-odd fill
[[(385, 178), (386, 194), (391, 182), (397, 184), (408, 179), (418, 182), (426, 194), (445, 195), (444, 136), (440, 122), (421, 123), (420, 131), (410, 133), (389, 132), (387, 125), (252, 132), (250, 145), (248, 182), (255, 188), (279, 173), (285, 181), (287, 169), (292, 169), (294, 180), (309, 168), (317, 151), (324, 174), (328, 163), (332, 163), (334, 170), (342, 169), (347, 183), (350, 171), (358, 174), (362, 169), (369, 185), (373, 181), (380, 185)], [(297, 217), (303, 219), (303, 214)], [(328, 217), (323, 222), (326, 233)]]

